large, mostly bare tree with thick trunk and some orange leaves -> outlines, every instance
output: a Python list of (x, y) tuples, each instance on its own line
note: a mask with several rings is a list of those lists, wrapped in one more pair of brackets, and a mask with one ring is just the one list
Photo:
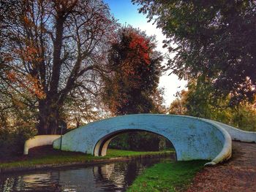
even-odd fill
[(116, 22), (101, 0), (1, 1), (1, 80), (37, 101), (39, 134), (56, 134), (66, 99), (95, 93)]

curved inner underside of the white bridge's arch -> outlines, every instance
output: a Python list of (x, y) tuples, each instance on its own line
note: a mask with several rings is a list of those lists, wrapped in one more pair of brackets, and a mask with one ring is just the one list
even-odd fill
[[(154, 136), (162, 137), (162, 139), (166, 140), (167, 146), (169, 146), (170, 148), (175, 150), (173, 142), (171, 142), (170, 139), (168, 139), (167, 137), (163, 136), (162, 134), (157, 134), (155, 132), (147, 131), (147, 130), (143, 130), (143, 129), (129, 129), (129, 130), (122, 129), (122, 130), (119, 130), (119, 131), (114, 131), (113, 133), (110, 133), (110, 134), (106, 135), (105, 137), (102, 137), (101, 139), (99, 139), (99, 141), (97, 142), (97, 144), (94, 147), (94, 155), (96, 155), (96, 156), (105, 156), (105, 155), (107, 155), (107, 150), (108, 150), (108, 147), (110, 145), (110, 142), (114, 138), (116, 138), (118, 136), (121, 136), (121, 134), (143, 133), (143, 132), (150, 133), (150, 134), (152, 134)], [(157, 146), (158, 145), (159, 145), (159, 143), (157, 143)], [(143, 151), (143, 150), (138, 150), (138, 151)]]

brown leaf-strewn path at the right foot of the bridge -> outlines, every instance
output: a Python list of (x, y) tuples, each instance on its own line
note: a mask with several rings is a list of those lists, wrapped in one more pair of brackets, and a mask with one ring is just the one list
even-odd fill
[(233, 142), (230, 161), (197, 173), (187, 192), (256, 191), (256, 144)]

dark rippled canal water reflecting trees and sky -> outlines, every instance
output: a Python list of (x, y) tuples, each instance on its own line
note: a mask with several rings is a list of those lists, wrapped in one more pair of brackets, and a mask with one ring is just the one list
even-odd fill
[(174, 158), (144, 158), (94, 166), (0, 175), (0, 191), (126, 191), (148, 166)]

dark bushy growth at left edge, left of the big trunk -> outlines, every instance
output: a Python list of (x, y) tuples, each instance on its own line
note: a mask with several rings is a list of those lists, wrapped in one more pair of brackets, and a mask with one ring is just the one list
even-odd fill
[[(0, 80), (0, 159), (23, 154), (24, 142), (37, 134), (37, 110), (29, 94), (11, 93)], [(25, 104), (24, 104), (25, 103)]]

